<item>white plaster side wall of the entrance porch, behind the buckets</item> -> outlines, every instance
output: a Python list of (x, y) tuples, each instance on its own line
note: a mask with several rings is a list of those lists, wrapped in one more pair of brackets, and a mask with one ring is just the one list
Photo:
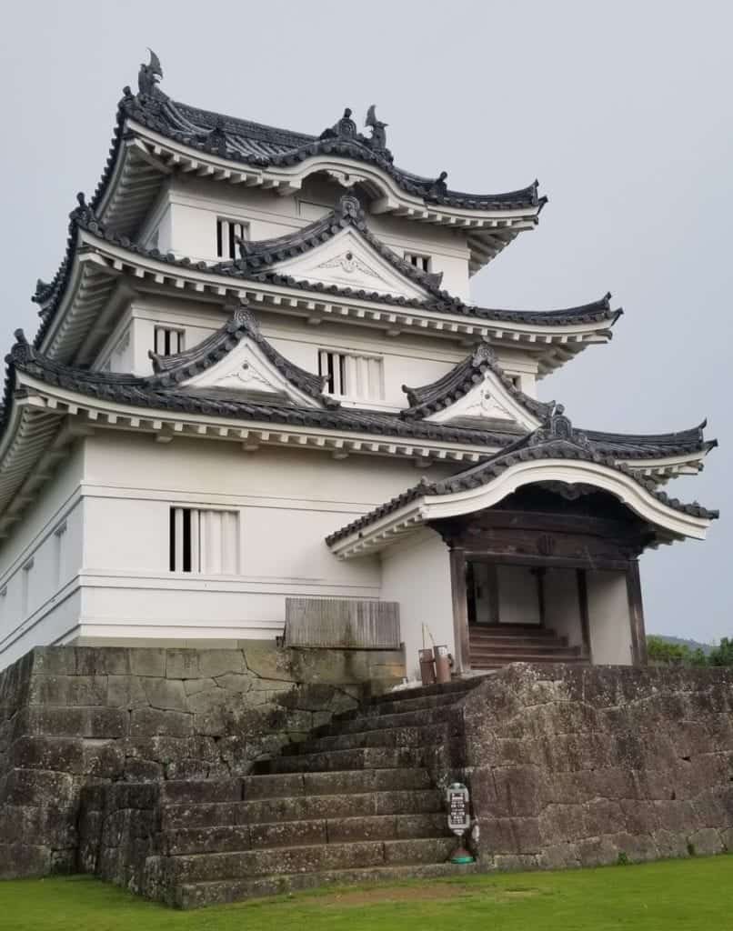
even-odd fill
[[(418, 650), (448, 646), (455, 655), (451, 569), (448, 547), (438, 533), (425, 529), (382, 553), (382, 598), (400, 602), (400, 632), (409, 679), (418, 679)], [(426, 625), (432, 641), (425, 633)]]

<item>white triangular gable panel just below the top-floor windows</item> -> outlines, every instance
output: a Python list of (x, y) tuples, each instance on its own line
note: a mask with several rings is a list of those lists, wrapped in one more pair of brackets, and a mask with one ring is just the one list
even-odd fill
[(400, 275), (351, 228), (305, 255), (273, 265), (273, 270), (279, 275), (339, 288), (377, 291), (418, 301), (429, 296), (428, 291)]

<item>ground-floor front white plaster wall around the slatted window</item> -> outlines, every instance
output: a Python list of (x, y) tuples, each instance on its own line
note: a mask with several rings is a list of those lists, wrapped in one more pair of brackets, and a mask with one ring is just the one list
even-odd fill
[[(336, 560), (324, 537), (418, 478), (410, 463), (211, 440), (87, 442), (84, 636), (273, 637), (288, 595), (379, 598), (378, 559)], [(172, 505), (238, 511), (238, 574), (170, 573)]]

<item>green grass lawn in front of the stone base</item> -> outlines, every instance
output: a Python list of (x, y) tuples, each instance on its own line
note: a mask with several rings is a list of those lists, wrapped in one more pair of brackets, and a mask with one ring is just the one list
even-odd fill
[(172, 911), (88, 877), (0, 883), (2, 931), (725, 931), (733, 856), (361, 886)]

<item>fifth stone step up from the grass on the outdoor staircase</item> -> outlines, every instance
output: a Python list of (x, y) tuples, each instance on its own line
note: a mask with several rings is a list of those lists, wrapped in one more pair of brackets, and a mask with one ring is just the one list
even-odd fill
[(431, 786), (428, 771), (419, 767), (245, 776), (242, 782), (246, 802), (305, 793), (333, 795), (385, 789), (429, 789)]

